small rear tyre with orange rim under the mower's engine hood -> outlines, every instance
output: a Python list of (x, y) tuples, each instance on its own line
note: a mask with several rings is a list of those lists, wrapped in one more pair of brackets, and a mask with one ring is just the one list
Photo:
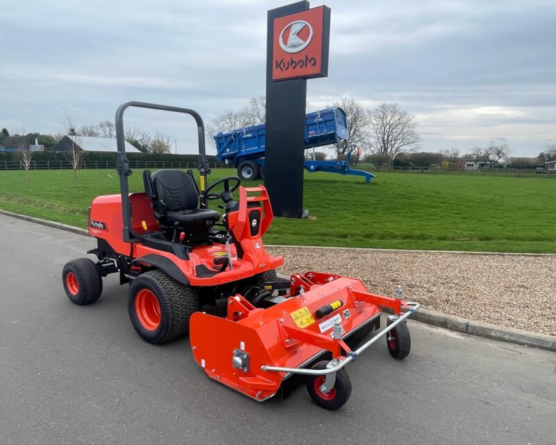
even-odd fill
[(67, 298), (76, 305), (90, 305), (102, 293), (102, 277), (99, 269), (88, 258), (72, 259), (62, 270), (62, 282)]

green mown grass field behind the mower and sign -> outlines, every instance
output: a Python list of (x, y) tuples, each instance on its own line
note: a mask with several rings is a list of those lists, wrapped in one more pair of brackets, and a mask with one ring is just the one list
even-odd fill
[[(233, 175), (213, 170), (211, 180)], [(254, 182), (252, 184), (255, 184)], [(248, 185), (248, 184), (247, 184)], [(140, 171), (130, 190), (142, 191)], [(0, 171), (0, 208), (86, 227), (93, 197), (118, 193), (111, 170)], [(361, 248), (556, 252), (556, 178), (379, 172), (306, 173), (309, 220), (276, 218), (265, 243)], [(353, 261), (357, 261), (354, 257)]]

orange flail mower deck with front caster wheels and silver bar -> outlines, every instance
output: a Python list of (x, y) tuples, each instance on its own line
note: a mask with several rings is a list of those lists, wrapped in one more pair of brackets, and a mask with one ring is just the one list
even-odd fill
[[(195, 361), (210, 378), (257, 401), (274, 396), (293, 374), (306, 375), (311, 398), (328, 410), (350, 398), (345, 365), (380, 337), (386, 336), (393, 357), (409, 354), (405, 320), (419, 307), (369, 293), (360, 280), (316, 272), (292, 275), (289, 293), (271, 301), (275, 305), (261, 309), (236, 295), (227, 300), (225, 318), (195, 312), (190, 319)], [(386, 328), (352, 350), (350, 337), (372, 330), (381, 307), (394, 313)], [(332, 359), (318, 362), (326, 353)]]

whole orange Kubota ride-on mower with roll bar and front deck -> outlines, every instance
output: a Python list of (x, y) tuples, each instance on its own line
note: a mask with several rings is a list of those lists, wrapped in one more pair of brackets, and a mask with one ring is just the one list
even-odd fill
[[(200, 188), (191, 171), (145, 170), (145, 192), (129, 193), (123, 115), (130, 106), (193, 116)], [(286, 395), (288, 382), (297, 380), (292, 377), (304, 375), (313, 401), (335, 410), (351, 394), (345, 365), (380, 337), (393, 357), (409, 354), (405, 320), (418, 303), (369, 293), (360, 280), (341, 275), (307, 272), (277, 280), (284, 260), (265, 252), (261, 239), (272, 221), (268, 194), (263, 186), (240, 186), (238, 177), (206, 186), (211, 170), (195, 111), (128, 102), (117, 109), (116, 133), (121, 193), (91, 204), (89, 234), (97, 248), (88, 253), (98, 261), (64, 266), (72, 302), (95, 302), (102, 277), (117, 273), (120, 284), (129, 283), (129, 317), (142, 339), (164, 343), (189, 332), (205, 373), (257, 401)], [(211, 200), (222, 200), (222, 217), (208, 209)], [(382, 307), (393, 315), (368, 339), (379, 328)]]

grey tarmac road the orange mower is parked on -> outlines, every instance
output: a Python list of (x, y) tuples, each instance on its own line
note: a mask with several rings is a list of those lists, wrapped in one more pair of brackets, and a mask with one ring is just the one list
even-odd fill
[(142, 341), (115, 277), (73, 305), (61, 270), (92, 238), (7, 216), (0, 227), (1, 444), (556, 443), (554, 353), (410, 321), (407, 359), (379, 341), (347, 366), (341, 410), (304, 387), (259, 403), (204, 375), (188, 339)]

